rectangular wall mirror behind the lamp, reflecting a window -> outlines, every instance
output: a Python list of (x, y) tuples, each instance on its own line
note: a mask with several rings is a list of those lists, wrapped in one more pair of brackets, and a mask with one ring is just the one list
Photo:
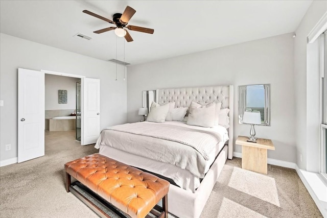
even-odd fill
[(239, 86), (239, 124), (243, 123), (244, 111), (259, 111), (259, 125), (270, 126), (270, 84)]

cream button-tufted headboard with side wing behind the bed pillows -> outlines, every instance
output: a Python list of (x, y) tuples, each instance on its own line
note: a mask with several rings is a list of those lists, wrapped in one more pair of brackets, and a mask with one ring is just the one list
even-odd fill
[(221, 102), (221, 108), (229, 108), (228, 158), (233, 157), (233, 102), (234, 88), (229, 86), (207, 86), (191, 88), (157, 89), (156, 102), (175, 102), (175, 107), (190, 107), (191, 102)]

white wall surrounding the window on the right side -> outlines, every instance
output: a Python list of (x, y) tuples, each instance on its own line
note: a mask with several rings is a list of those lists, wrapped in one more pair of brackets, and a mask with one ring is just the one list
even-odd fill
[(307, 71), (307, 36), (326, 11), (326, 1), (313, 1), (295, 31), (294, 41), (296, 163), (299, 168), (313, 172), (319, 171), (319, 143), (310, 128), (315, 127), (313, 122), (319, 113), (315, 98), (319, 96), (319, 89), (317, 75)]

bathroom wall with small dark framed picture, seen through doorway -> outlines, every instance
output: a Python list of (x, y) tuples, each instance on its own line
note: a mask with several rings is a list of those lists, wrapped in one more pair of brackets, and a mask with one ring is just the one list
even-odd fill
[[(76, 81), (80, 81), (80, 78), (45, 74), (44, 80), (45, 110), (74, 110), (76, 108)], [(67, 90), (67, 104), (58, 103), (58, 90)]]

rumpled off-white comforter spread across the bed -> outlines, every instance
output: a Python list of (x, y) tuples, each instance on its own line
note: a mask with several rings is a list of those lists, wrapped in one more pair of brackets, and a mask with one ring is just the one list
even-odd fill
[(170, 163), (203, 178), (214, 161), (218, 142), (228, 140), (223, 127), (204, 128), (182, 122), (139, 122), (104, 129), (99, 146), (110, 146), (156, 161)]

